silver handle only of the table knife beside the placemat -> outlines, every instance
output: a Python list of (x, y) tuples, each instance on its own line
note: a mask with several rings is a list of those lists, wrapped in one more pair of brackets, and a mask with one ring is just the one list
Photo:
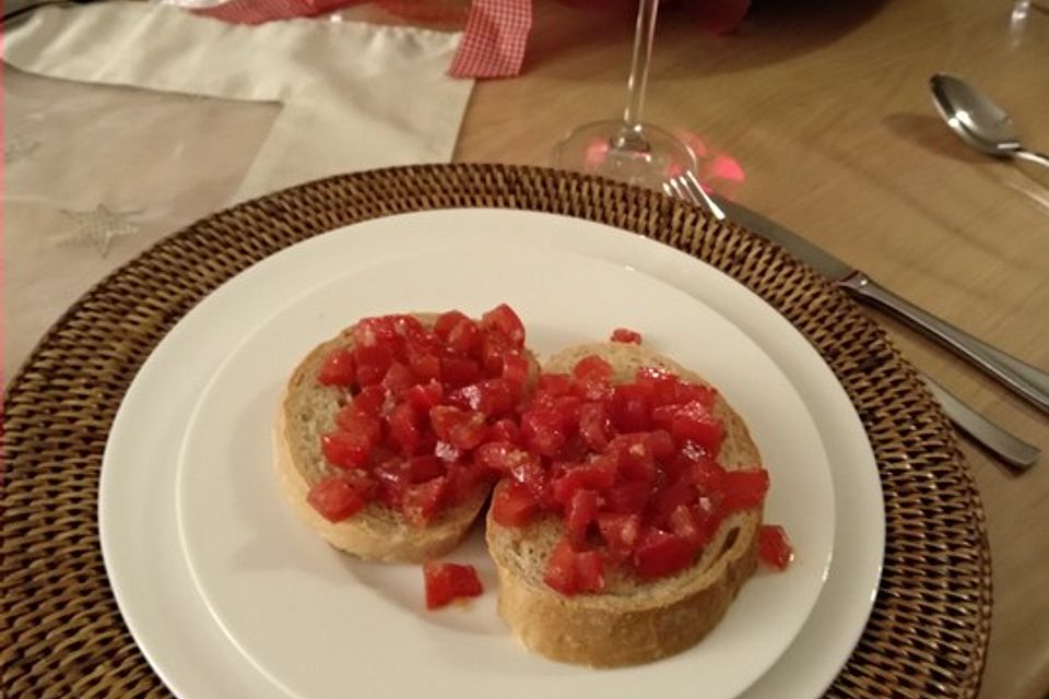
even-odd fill
[(862, 272), (850, 274), (839, 284), (859, 296), (892, 311), (918, 330), (926, 332), (944, 346), (987, 371), (1013, 392), (1049, 413), (1049, 374), (1024, 364), (967, 332), (918, 308), (907, 299), (893, 294)]

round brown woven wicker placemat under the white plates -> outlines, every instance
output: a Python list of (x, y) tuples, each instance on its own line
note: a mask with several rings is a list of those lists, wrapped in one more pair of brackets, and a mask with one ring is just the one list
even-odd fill
[(827, 696), (976, 696), (991, 611), (982, 508), (954, 433), (884, 332), (825, 279), (695, 208), (496, 165), (362, 173), (238, 205), (160, 242), (67, 311), (4, 396), (0, 696), (169, 696), (117, 611), (96, 506), (114, 415), (175, 322), (226, 280), (310, 236), (472, 206), (558, 213), (661, 240), (739, 280), (804, 333), (856, 406), (885, 494), (877, 600)]

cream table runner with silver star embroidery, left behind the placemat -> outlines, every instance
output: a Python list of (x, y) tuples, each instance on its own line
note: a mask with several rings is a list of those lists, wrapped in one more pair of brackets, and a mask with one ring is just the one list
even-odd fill
[(473, 86), (446, 75), (458, 40), (142, 2), (44, 8), (7, 31), (4, 367), (113, 268), (217, 208), (450, 159)]

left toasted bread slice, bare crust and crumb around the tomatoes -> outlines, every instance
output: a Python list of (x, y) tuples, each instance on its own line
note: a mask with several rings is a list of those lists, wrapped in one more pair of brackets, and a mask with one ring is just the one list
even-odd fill
[[(436, 318), (428, 313), (415, 316), (427, 325)], [(320, 440), (333, 429), (344, 392), (321, 386), (316, 377), (332, 350), (352, 346), (352, 330), (317, 346), (287, 382), (274, 428), (274, 461), (281, 490), (298, 517), (335, 548), (369, 560), (420, 562), (440, 557), (465, 535), (481, 512), (490, 487), (479, 488), (469, 500), (443, 511), (423, 528), (410, 524), (400, 512), (379, 502), (369, 502), (347, 520), (330, 522), (306, 500), (311, 486), (338, 473), (325, 460)], [(534, 375), (538, 364), (533, 358), (532, 364)]]

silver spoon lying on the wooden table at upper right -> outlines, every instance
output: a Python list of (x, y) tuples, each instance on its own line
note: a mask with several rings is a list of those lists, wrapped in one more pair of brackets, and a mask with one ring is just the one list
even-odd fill
[(929, 81), (932, 100), (947, 126), (970, 146), (995, 157), (1015, 157), (1049, 167), (1049, 155), (1025, 149), (1005, 110), (954, 75), (936, 73)]

